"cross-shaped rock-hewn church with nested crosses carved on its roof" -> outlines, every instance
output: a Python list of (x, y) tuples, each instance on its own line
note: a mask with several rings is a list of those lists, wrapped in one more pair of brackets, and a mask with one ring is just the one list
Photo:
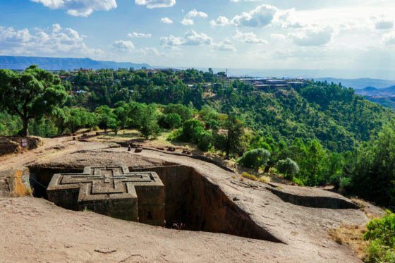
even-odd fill
[(67, 209), (164, 225), (164, 185), (154, 172), (130, 173), (127, 166), (87, 166), (83, 173), (56, 173), (47, 195)]

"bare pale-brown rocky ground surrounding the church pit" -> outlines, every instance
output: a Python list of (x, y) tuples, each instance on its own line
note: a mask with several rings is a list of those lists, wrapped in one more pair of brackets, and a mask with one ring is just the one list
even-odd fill
[[(365, 207), (365, 212), (358, 207), (317, 208), (314, 200), (353, 206), (351, 200), (334, 192), (241, 181), (236, 173), (188, 156), (148, 149), (128, 152), (111, 142), (71, 137), (45, 139), (44, 145), (28, 153), (0, 157), (0, 171), (28, 165), (114, 164), (194, 167), (282, 243), (147, 226), (92, 212), (68, 211), (34, 197), (0, 197), (0, 262), (360, 262), (328, 232), (343, 225), (366, 224), (365, 212), (370, 207)], [(308, 206), (293, 201), (300, 197), (313, 201)], [(371, 208), (375, 214), (382, 213)]]

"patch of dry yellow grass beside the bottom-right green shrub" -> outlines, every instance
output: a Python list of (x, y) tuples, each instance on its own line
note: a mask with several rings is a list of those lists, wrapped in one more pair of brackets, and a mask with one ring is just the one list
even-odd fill
[(369, 242), (363, 240), (362, 236), (367, 231), (366, 226), (341, 226), (337, 229), (329, 230), (329, 236), (336, 243), (348, 245), (360, 259), (364, 259), (367, 255), (365, 252)]

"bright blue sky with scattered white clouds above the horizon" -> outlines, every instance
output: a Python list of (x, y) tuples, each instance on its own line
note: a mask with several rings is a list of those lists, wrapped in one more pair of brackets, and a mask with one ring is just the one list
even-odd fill
[(394, 11), (393, 0), (0, 0), (0, 55), (395, 73)]

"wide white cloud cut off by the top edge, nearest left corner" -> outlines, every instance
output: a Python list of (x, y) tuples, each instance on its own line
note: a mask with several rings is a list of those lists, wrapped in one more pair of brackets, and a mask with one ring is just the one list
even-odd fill
[(93, 11), (116, 8), (116, 0), (30, 0), (51, 9), (66, 9), (71, 16), (89, 16)]

